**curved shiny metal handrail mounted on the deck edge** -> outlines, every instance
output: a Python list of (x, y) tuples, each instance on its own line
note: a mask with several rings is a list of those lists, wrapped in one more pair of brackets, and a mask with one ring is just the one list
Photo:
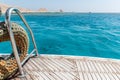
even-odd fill
[[(14, 34), (12, 32), (12, 29), (11, 29), (11, 15), (12, 15), (13, 12), (17, 13), (17, 15), (23, 21), (25, 26), (28, 28), (28, 30), (29, 30), (29, 32), (31, 34), (31, 37), (32, 37), (32, 42), (34, 44), (34, 49), (31, 51), (31, 53), (22, 62), (20, 62), (20, 57), (18, 55), (18, 51), (17, 51), (15, 39), (14, 39)], [(16, 8), (9, 8), (6, 11), (5, 17), (6, 17), (5, 18), (5, 23), (7, 25), (7, 29), (8, 29), (9, 35), (10, 35), (10, 41), (11, 41), (11, 44), (12, 44), (14, 56), (15, 56), (15, 59), (17, 61), (17, 65), (18, 65), (18, 69), (19, 69), (20, 75), (23, 76), (24, 73), (23, 73), (23, 70), (22, 70), (22, 65), (25, 63), (25, 61), (28, 60), (28, 58), (30, 58), (30, 56), (33, 53), (35, 53), (35, 52), (36, 52), (36, 56), (39, 55), (38, 54), (38, 50), (37, 50), (37, 46), (36, 46), (36, 43), (35, 43), (34, 35), (32, 33), (32, 30), (31, 30), (30, 26), (28, 25), (27, 21), (25, 20), (25, 18), (22, 16), (21, 12), (18, 9), (16, 9)]]

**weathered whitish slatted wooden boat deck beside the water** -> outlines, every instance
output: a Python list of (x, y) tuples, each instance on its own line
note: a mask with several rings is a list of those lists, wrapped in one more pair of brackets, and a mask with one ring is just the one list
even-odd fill
[(113, 59), (44, 55), (23, 68), (26, 77), (12, 80), (120, 80), (120, 61)]

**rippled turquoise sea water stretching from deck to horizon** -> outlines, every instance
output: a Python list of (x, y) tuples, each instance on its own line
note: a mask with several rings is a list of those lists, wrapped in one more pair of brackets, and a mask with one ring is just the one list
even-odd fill
[[(36, 13), (24, 16), (40, 54), (120, 59), (120, 14)], [(3, 16), (0, 20), (4, 20)], [(16, 15), (12, 20), (24, 26)], [(0, 52), (11, 52), (10, 46), (9, 41), (0, 43)], [(30, 45), (30, 50), (32, 48)]]

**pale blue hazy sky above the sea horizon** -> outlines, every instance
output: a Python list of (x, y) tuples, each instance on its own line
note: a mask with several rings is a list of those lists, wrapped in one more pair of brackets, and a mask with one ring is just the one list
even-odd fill
[(0, 0), (12, 6), (32, 10), (46, 8), (65, 12), (120, 12), (120, 0)]

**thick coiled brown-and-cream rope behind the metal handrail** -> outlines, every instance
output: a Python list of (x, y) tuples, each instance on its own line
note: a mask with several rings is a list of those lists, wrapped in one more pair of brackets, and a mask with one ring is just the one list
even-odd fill
[[(20, 56), (20, 61), (23, 61), (28, 52), (29, 39), (26, 31), (17, 23), (12, 23), (12, 31), (14, 34), (16, 46)], [(9, 41), (9, 33), (5, 22), (0, 23), (0, 42)], [(8, 47), (9, 48), (9, 47)], [(13, 53), (7, 58), (0, 58), (0, 80), (6, 79), (15, 73), (18, 69)]]

